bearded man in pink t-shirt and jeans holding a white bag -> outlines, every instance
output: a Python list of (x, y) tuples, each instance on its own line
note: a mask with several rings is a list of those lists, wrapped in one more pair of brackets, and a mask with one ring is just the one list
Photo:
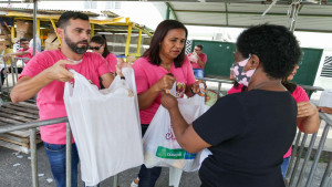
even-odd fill
[[(91, 33), (86, 14), (64, 12), (58, 21), (56, 33), (62, 41), (61, 49), (44, 51), (31, 59), (10, 94), (17, 103), (39, 93), (37, 105), (41, 121), (66, 116), (64, 82), (73, 79), (68, 69), (83, 74), (98, 87), (100, 79), (105, 87), (114, 80), (105, 60), (100, 54), (86, 52)], [(65, 186), (65, 123), (40, 127), (56, 187)], [(72, 186), (76, 187), (79, 155), (72, 143)]]

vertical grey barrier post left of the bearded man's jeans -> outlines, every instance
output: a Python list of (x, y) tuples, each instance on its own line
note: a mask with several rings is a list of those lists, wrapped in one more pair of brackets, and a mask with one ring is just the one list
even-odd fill
[(30, 128), (30, 149), (31, 149), (31, 169), (32, 169), (32, 186), (39, 187), (38, 170), (37, 170), (37, 145), (35, 145), (35, 128)]

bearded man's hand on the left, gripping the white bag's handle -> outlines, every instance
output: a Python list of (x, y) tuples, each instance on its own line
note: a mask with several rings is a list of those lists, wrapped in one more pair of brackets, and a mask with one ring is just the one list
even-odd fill
[(76, 63), (68, 61), (68, 60), (60, 60), (54, 65), (48, 69), (48, 79), (51, 81), (58, 80), (61, 82), (68, 82), (74, 77), (74, 74), (70, 72), (65, 65), (75, 65)]

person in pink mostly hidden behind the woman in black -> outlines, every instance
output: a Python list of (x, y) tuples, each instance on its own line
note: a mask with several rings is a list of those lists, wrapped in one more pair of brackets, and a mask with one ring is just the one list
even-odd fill
[[(298, 128), (308, 134), (318, 132), (320, 127), (320, 117), (317, 107), (309, 102), (309, 97), (305, 91), (290, 81), (293, 80), (297, 74), (299, 65), (295, 65), (292, 73), (282, 81), (282, 85), (291, 93), (295, 102), (298, 103)], [(230, 71), (230, 79), (234, 80), (232, 70)], [(235, 85), (227, 92), (228, 94), (239, 93), (247, 91), (247, 86), (242, 84), (235, 83)], [(289, 165), (290, 156), (292, 153), (292, 147), (283, 155), (283, 163), (281, 165), (281, 173), (283, 177)]]

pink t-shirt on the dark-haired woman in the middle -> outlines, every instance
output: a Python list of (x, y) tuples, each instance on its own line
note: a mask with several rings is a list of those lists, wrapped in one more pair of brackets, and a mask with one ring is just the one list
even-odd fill
[[(183, 97), (186, 91), (186, 85), (190, 85), (196, 82), (191, 65), (187, 58), (185, 59), (181, 67), (175, 67), (173, 63), (169, 72), (163, 66), (152, 64), (146, 58), (141, 58), (135, 61), (133, 67), (135, 72), (137, 94), (147, 91), (167, 73), (172, 73), (177, 79), (176, 97)], [(151, 123), (160, 105), (160, 97), (162, 96), (159, 94), (148, 108), (139, 112), (142, 124)]]

